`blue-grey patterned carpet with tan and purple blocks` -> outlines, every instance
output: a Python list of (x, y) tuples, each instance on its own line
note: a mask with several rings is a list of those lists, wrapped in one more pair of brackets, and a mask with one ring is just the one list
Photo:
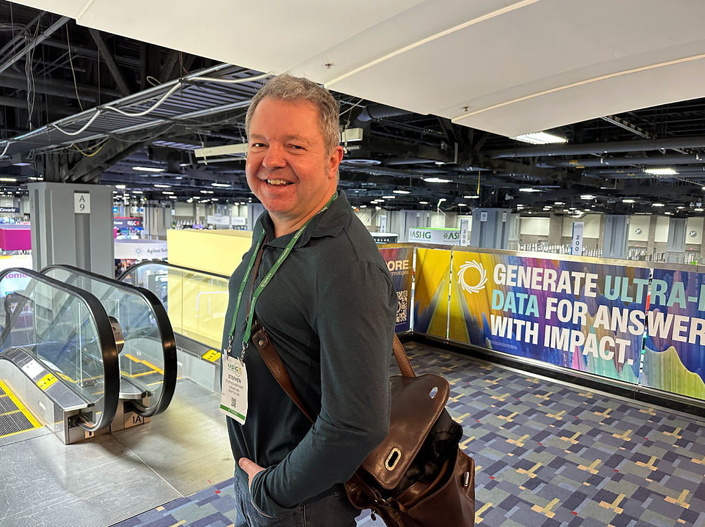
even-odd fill
[[(405, 348), (417, 374), (451, 384), (448, 408), (477, 466), (476, 525), (705, 526), (701, 420), (422, 344)], [(227, 527), (234, 509), (231, 480), (117, 526)], [(381, 526), (369, 514), (357, 524)]]

